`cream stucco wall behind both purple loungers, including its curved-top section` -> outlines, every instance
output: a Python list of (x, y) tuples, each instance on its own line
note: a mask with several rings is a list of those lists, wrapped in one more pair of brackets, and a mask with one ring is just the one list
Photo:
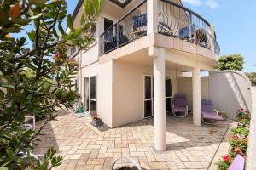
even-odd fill
[[(214, 71), (201, 77), (201, 99), (212, 99), (215, 109), (235, 119), (236, 110), (251, 111), (251, 83), (241, 72)], [(192, 111), (192, 78), (177, 78), (177, 94), (186, 94), (189, 111)]]

